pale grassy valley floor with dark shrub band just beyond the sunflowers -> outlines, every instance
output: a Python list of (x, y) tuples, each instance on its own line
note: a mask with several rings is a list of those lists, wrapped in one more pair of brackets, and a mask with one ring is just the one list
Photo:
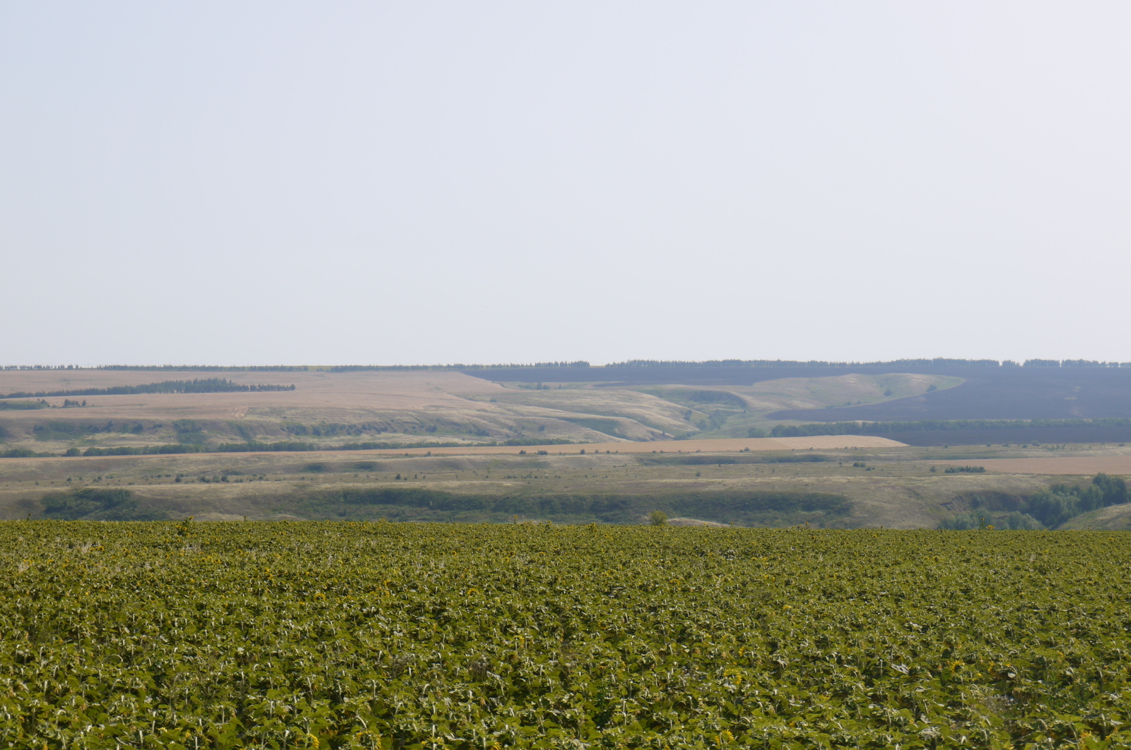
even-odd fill
[[(1117, 445), (644, 454), (551, 447), (560, 451), (3, 459), (0, 517), (41, 517), (45, 498), (121, 489), (129, 492), (135, 515), (92, 517), (645, 523), (649, 511), (664, 509), (672, 517), (736, 525), (808, 521), (921, 529), (968, 509), (975, 498), (1030, 496), (1054, 482), (1086, 482), (1097, 471), (1131, 473), (1131, 448)], [(966, 465), (985, 472), (947, 472)], [(615, 508), (601, 504), (610, 498)], [(1073, 523), (1124, 529), (1131, 521), (1126, 507), (1104, 508)]]

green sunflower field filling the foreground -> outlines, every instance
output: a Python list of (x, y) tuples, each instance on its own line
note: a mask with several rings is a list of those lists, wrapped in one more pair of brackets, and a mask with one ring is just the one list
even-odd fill
[(0, 748), (1131, 748), (1120, 532), (0, 524)]

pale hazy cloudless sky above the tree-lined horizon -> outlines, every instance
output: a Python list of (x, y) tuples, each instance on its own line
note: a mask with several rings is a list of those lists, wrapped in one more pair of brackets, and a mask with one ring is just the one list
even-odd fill
[(1131, 360), (1131, 3), (0, 0), (0, 364)]

